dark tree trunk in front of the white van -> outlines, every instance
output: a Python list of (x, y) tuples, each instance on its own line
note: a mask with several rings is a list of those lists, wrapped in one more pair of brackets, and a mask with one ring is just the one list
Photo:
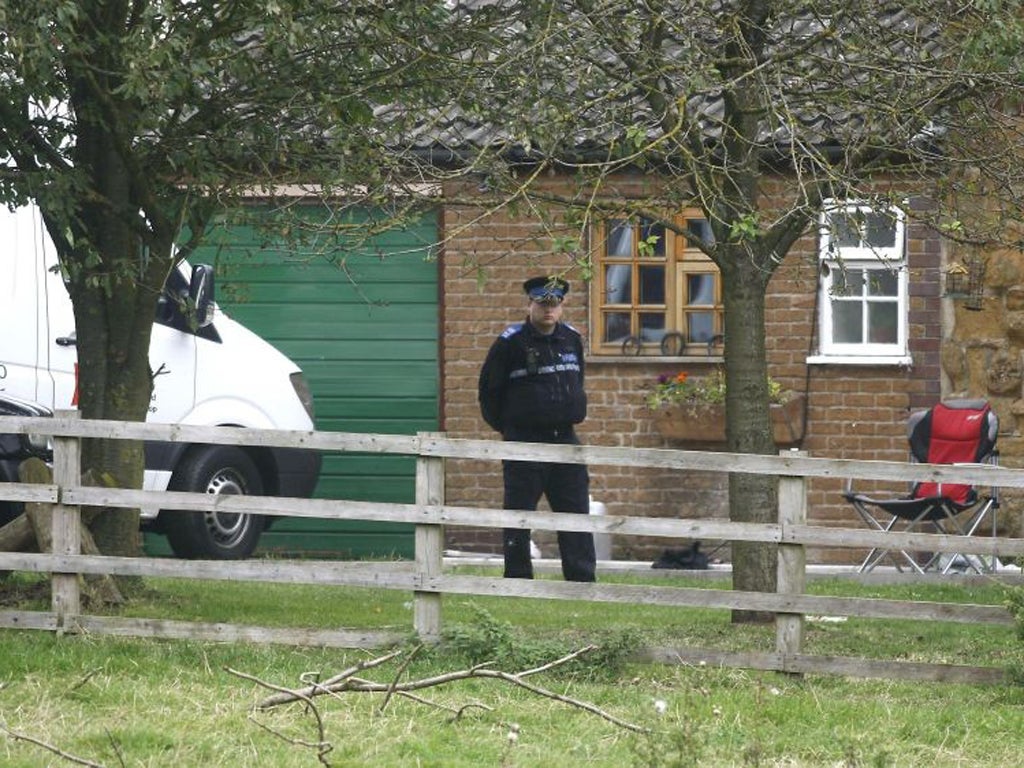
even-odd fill
[[(153, 392), (150, 338), (173, 234), (158, 227), (156, 214), (141, 215), (122, 148), (104, 125), (81, 128), (76, 165), (89, 170), (99, 194), (78, 208), (73, 237), (54, 241), (65, 246), (58, 253), (75, 309), (82, 418), (144, 421)], [(139, 442), (83, 441), (83, 472), (140, 488), (143, 466)], [(138, 510), (103, 510), (90, 527), (103, 554), (141, 551)]]

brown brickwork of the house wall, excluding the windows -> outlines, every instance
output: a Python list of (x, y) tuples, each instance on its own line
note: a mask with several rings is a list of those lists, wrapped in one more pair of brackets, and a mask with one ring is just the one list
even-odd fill
[[(639, 182), (637, 182), (639, 183)], [(624, 184), (629, 188), (630, 184)], [(521, 213), (521, 211), (520, 211)], [(529, 218), (513, 218), (506, 210), (479, 218), (479, 211), (447, 206), (443, 215), (443, 401), (442, 428), (453, 437), (494, 438), (479, 416), (477, 376), (495, 337), (526, 312), (522, 281), (532, 274), (563, 270), (568, 258), (547, 252), (544, 226)], [(817, 244), (801, 241), (772, 279), (767, 301), (767, 346), (771, 376), (784, 387), (807, 394), (806, 436), (800, 447), (811, 456), (850, 459), (891, 459), (907, 456), (904, 432), (911, 410), (939, 397), (941, 342), (939, 273), (940, 242), (923, 227), (908, 228), (910, 266), (910, 349), (913, 365), (808, 366), (815, 349)], [(579, 272), (569, 272), (572, 290), (564, 319), (586, 337), (587, 291)], [(580, 428), (587, 444), (632, 447), (709, 445), (667, 442), (644, 409), (644, 387), (666, 371), (700, 375), (714, 361), (589, 358), (590, 410)], [(447, 503), (501, 507), (501, 467), (496, 462), (452, 461), (447, 465)], [(591, 467), (591, 487), (608, 514), (724, 517), (728, 514), (726, 476), (720, 473), (668, 472), (633, 468)], [(840, 481), (814, 481), (809, 488), (812, 521), (859, 526), (852, 508), (841, 497)], [(542, 508), (546, 508), (543, 507)], [(497, 531), (453, 528), (447, 546), (500, 552)], [(554, 556), (553, 535), (535, 537), (546, 555)], [(613, 554), (626, 559), (652, 559), (681, 542), (620, 537)], [(708, 543), (714, 548), (715, 543)], [(716, 551), (727, 559), (728, 550)], [(849, 552), (810, 552), (818, 562), (849, 561)]]

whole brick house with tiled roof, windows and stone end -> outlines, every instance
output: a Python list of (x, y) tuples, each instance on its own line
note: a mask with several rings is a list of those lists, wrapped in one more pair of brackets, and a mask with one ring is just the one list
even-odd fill
[[(779, 211), (791, 206), (799, 209), (804, 198), (782, 201), (790, 197), (786, 190), (798, 186), (797, 177), (786, 174), (804, 164), (818, 172), (810, 177), (820, 188), (833, 181), (839, 185), (849, 182), (852, 186), (863, 184), (860, 188), (866, 187), (867, 195), (898, 195), (905, 201), (900, 208), (906, 210), (868, 208), (857, 199), (826, 201), (819, 225), (788, 248), (773, 271), (767, 291), (765, 342), (770, 376), (805, 403), (803, 426), (794, 446), (811, 456), (902, 461), (907, 457), (905, 423), (911, 412), (931, 407), (944, 396), (983, 396), (992, 401), (999, 416), (1005, 463), (1013, 464), (1024, 455), (1015, 444), (1018, 414), (1024, 415), (1024, 263), (1009, 254), (987, 256), (1000, 268), (989, 269), (987, 282), (975, 286), (984, 290), (976, 293), (972, 302), (981, 311), (972, 313), (964, 302), (947, 295), (945, 275), (955, 266), (958, 254), (924, 223), (928, 216), (914, 215), (915, 211), (930, 211), (929, 195), (937, 190), (920, 185), (938, 186), (927, 180), (929, 173), (945, 172), (932, 164), (937, 157), (935, 142), (943, 143), (947, 128), (953, 130), (942, 120), (946, 117), (942, 99), (936, 100), (939, 112), (935, 115), (918, 102), (937, 85), (932, 76), (916, 78), (916, 65), (923, 57), (934, 57), (942, 66), (949, 63), (941, 47), (947, 30), (929, 19), (916, 19), (905, 9), (886, 7), (877, 17), (867, 14), (851, 19), (839, 36), (830, 31), (830, 17), (799, 13), (792, 18), (785, 14), (775, 17), (767, 7), (762, 10), (764, 29), (754, 24), (746, 30), (751, 35), (742, 41), (731, 37), (735, 19), (714, 9), (695, 25), (665, 26), (660, 18), (648, 18), (649, 29), (658, 33), (651, 39), (660, 47), (645, 49), (651, 55), (638, 58), (656, 59), (657, 67), (641, 73), (643, 87), (635, 87), (632, 65), (637, 61), (629, 56), (629, 61), (615, 59), (620, 67), (605, 66), (608, 62), (598, 57), (582, 82), (564, 67), (563, 62), (573, 56), (591, 61), (595, 47), (609, 56), (622, 50), (617, 24), (584, 24), (568, 8), (559, 19), (564, 24), (544, 30), (545, 35), (551, 33), (543, 39), (544, 49), (557, 48), (559, 55), (550, 60), (531, 55), (529, 46), (536, 41), (527, 34), (527, 26), (522, 36), (524, 48), (518, 51), (521, 56), (511, 59), (517, 67), (508, 69), (516, 73), (507, 84), (508, 92), (548, 99), (540, 104), (551, 108), (547, 113), (527, 102), (518, 104), (521, 110), (508, 120), (502, 112), (485, 126), (477, 124), (480, 118), (475, 113), (444, 113), (425, 124), (423, 133), (417, 135), (418, 146), (439, 147), (438, 157), (446, 156), (453, 146), (485, 146), (502, 155), (510, 168), (516, 163), (522, 163), (521, 168), (538, 168), (531, 164), (543, 159), (550, 163), (546, 172), (555, 167), (589, 168), (591, 160), (597, 165), (612, 148), (622, 148), (616, 142), (624, 136), (636, 135), (646, 136), (653, 147), (651, 157), (641, 161), (648, 170), (657, 163), (664, 163), (659, 167), (666, 169), (678, 169), (686, 164), (674, 165), (673, 158), (687, 158), (691, 153), (700, 159), (698, 168), (716, 170), (756, 156), (756, 173), (763, 174), (757, 182), (761, 185), (757, 202), (750, 198), (735, 205), (734, 200), (718, 201), (728, 210), (723, 217), (735, 224), (742, 223), (737, 221), (742, 211), (761, 207), (762, 202), (769, 210), (773, 200), (779, 202)], [(719, 25), (720, 20), (724, 24)], [(694, 30), (699, 32), (693, 34)], [(765, 32), (772, 34), (762, 34)], [(557, 46), (553, 44), (556, 39)], [(804, 46), (814, 41), (827, 55), (812, 56), (813, 66), (809, 66)], [(855, 106), (842, 97), (836, 103), (823, 101), (822, 93), (831, 93), (834, 86), (842, 91), (849, 83), (862, 84), (871, 93), (868, 86), (876, 72), (878, 53), (872, 46), (877, 41), (890, 47), (893, 76), (900, 83), (895, 90), (873, 94), (882, 109), (872, 111), (869, 100), (853, 99)], [(791, 43), (795, 47), (786, 49)], [(705, 45), (707, 49), (701, 48)], [(736, 84), (746, 82), (751, 72), (760, 73), (761, 66), (744, 70), (738, 61), (743, 56), (739, 55), (733, 62), (738, 69), (729, 70), (719, 61), (723, 45), (733, 52), (750, 52), (752, 61), (764, 60), (779, 69), (764, 80), (754, 78), (762, 88), (760, 93), (742, 92)], [(511, 49), (518, 50), (514, 45)], [(694, 51), (702, 51), (705, 58), (687, 55)], [(787, 55), (782, 55), (783, 51)], [(754, 54), (764, 54), (764, 58)], [(705, 87), (694, 92), (691, 75), (702, 72), (706, 60), (735, 76), (731, 84), (722, 86), (722, 92), (708, 87), (701, 78), (696, 83)], [(525, 80), (516, 79), (521, 78), (520, 65), (529, 73)], [(716, 74), (720, 72), (716, 70)], [(951, 82), (956, 83), (954, 74), (950, 73)], [(908, 76), (905, 82), (902, 75)], [(784, 91), (786, 84), (804, 83), (808, 78), (815, 87)], [(528, 87), (537, 83), (544, 87)], [(888, 81), (883, 82), (883, 88), (885, 83)], [(783, 91), (776, 93), (776, 87)], [(656, 91), (656, 97), (645, 98), (648, 88)], [(501, 89), (498, 92), (500, 95)], [(572, 101), (579, 93), (588, 95), (585, 103)], [(908, 100), (901, 109), (887, 96), (897, 100), (907, 96)], [(770, 109), (776, 101), (785, 105), (781, 117)], [(564, 103), (580, 108), (569, 111), (564, 125), (544, 119)], [(859, 114), (861, 109), (866, 115)], [(752, 114), (765, 117), (751, 121)], [(906, 114), (921, 123), (908, 136), (904, 135), (908, 130)], [(672, 129), (659, 132), (666, 125)], [(686, 130), (675, 131), (679, 126)], [(540, 129), (550, 129), (550, 133), (541, 130), (535, 137), (532, 132)], [(879, 162), (862, 167), (855, 151), (865, 144), (873, 146), (868, 139), (876, 130), (881, 147), (892, 137), (899, 143), (892, 152), (880, 151)], [(438, 132), (441, 135), (435, 135)], [(699, 142), (693, 141), (697, 132), (702, 139)], [(683, 134), (689, 138), (682, 139)], [(524, 141), (524, 135), (530, 139)], [(970, 137), (974, 132), (969, 127), (965, 135)], [(544, 152), (531, 150), (541, 145)], [(564, 157), (551, 146), (564, 151)], [(591, 152), (596, 155), (589, 155)], [(873, 153), (867, 155), (874, 157)], [(968, 159), (971, 156), (967, 153)], [(487, 162), (478, 166), (492, 167)], [(627, 170), (633, 166), (626, 164), (614, 167), (622, 170), (604, 179), (604, 188), (613, 188), (621, 199), (658, 199), (657, 184), (671, 183), (654, 171)], [(743, 195), (755, 173), (750, 170), (753, 167), (740, 164), (733, 178)], [(855, 169), (852, 177), (843, 178), (842, 171), (851, 168)], [(906, 183), (880, 177), (884, 169), (892, 168), (924, 169), (924, 174)], [(680, 177), (700, 176), (692, 167), (687, 169)], [(513, 185), (520, 182), (515, 170), (505, 170)], [(714, 176), (710, 173), (701, 180), (713, 186)], [(552, 196), (573, 191), (568, 177), (559, 178), (554, 171), (534, 179), (534, 183)], [(817, 200), (818, 187), (811, 187), (807, 200)], [(579, 258), (580, 254), (563, 252), (551, 234), (550, 222), (542, 221), (536, 210), (473, 205), (474, 198), (482, 194), (470, 183), (458, 186), (451, 182), (439, 198), (440, 428), (454, 437), (499, 439), (485, 427), (476, 403), (480, 365), (497, 334), (522, 319), (522, 281), (542, 272), (558, 272), (573, 286), (565, 319), (587, 342), (590, 413), (580, 429), (584, 442), (721, 450), (721, 445), (667, 439), (645, 407), (645, 394), (659, 375), (685, 371), (699, 377), (713, 373), (722, 365), (724, 345), (729, 343), (722, 336), (721, 276), (691, 239), (659, 228), (652, 220), (612, 214), (589, 219), (582, 229), (571, 232), (580, 237), (584, 249), (586, 258)], [(539, 197), (544, 198), (543, 194)], [(672, 216), (681, 231), (700, 239), (706, 239), (706, 230), (710, 232), (696, 210), (682, 206), (673, 210)], [(766, 218), (771, 215), (766, 214)], [(592, 468), (591, 474), (594, 498), (611, 514), (727, 515), (725, 477), (720, 474), (603, 467)], [(844, 502), (841, 484), (838, 479), (810, 483), (812, 522), (861, 524)], [(501, 485), (500, 468), (494, 463), (449, 465), (449, 503), (497, 507), (502, 500)], [(1013, 506), (1012, 500), (1009, 506)], [(500, 550), (493, 531), (450, 530), (449, 537), (452, 547)], [(627, 558), (649, 558), (667, 546), (664, 541), (624, 540), (615, 544), (616, 556)], [(836, 556), (849, 554), (811, 553), (812, 558), (821, 560)]]

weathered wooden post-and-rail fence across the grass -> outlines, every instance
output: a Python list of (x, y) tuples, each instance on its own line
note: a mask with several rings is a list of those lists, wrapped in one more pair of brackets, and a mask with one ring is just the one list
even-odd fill
[[(982, 556), (1024, 555), (1024, 539), (961, 537), (928, 532), (883, 532), (807, 524), (806, 481), (810, 477), (908, 481), (934, 480), (978, 485), (1024, 487), (1024, 470), (991, 466), (941, 466), (900, 462), (816, 459), (799, 452), (748, 456), (658, 449), (550, 445), (496, 440), (450, 439), (443, 434), (415, 436), (342, 432), (294, 432), (229, 427), (198, 427), (112, 421), (82, 421), (75, 412), (54, 419), (5, 418), (5, 431), (53, 436), (54, 478), (50, 485), (0, 483), (0, 499), (51, 504), (51, 553), (0, 553), (0, 570), (50, 573), (52, 605), (48, 611), (0, 611), (0, 627), (160, 638), (280, 642), (336, 647), (374, 647), (400, 639), (395, 633), (368, 630), (301, 630), (229, 624), (170, 622), (84, 614), (79, 575), (170, 577), (278, 584), (373, 587), (413, 594), (413, 629), (426, 640), (441, 631), (443, 595), (492, 595), (559, 600), (626, 602), (667, 606), (770, 611), (776, 615), (774, 652), (723, 652), (700, 648), (648, 649), (645, 656), (672, 663), (708, 663), (776, 670), (786, 673), (835, 673), (959, 682), (997, 682), (1001, 669), (944, 664), (913, 664), (851, 657), (823, 657), (801, 652), (805, 616), (827, 614), (921, 620), (965, 624), (1010, 625), (1001, 606), (825, 597), (806, 594), (805, 547), (886, 547)], [(185, 441), (303, 447), (322, 452), (401, 454), (417, 458), (416, 503), (386, 504), (324, 499), (280, 499), (210, 496), (173, 492), (88, 487), (81, 484), (81, 438)], [(528, 459), (597, 466), (737, 471), (778, 478), (777, 522), (755, 524), (725, 520), (681, 520), (620, 515), (578, 515), (455, 507), (444, 504), (445, 459)], [(498, 471), (496, 469), (496, 471)], [(416, 555), (412, 562), (346, 562), (264, 560), (200, 561), (125, 558), (80, 554), (81, 507), (157, 507), (186, 511), (317, 517), (335, 520), (381, 520), (415, 524)], [(580, 584), (551, 580), (503, 580), (460, 575), (443, 564), (445, 525), (579, 530), (615, 536), (666, 537), (721, 541), (771, 542), (778, 545), (778, 585), (774, 593), (720, 589)]]

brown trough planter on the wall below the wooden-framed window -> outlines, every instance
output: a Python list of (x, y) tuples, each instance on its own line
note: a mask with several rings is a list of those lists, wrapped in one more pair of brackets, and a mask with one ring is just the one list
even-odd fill
[[(792, 445), (804, 436), (804, 395), (793, 394), (770, 407), (776, 445)], [(725, 442), (725, 403), (677, 402), (653, 412), (660, 435), (683, 442)]]

